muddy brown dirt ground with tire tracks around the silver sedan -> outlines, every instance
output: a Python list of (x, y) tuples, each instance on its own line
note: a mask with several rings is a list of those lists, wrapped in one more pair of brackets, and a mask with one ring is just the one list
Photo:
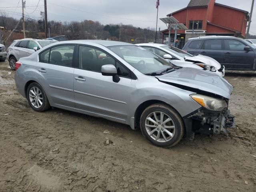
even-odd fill
[(226, 75), (237, 122), (230, 136), (197, 135), (170, 149), (123, 124), (35, 112), (16, 91), (14, 73), (0, 63), (1, 192), (256, 191), (256, 73)]

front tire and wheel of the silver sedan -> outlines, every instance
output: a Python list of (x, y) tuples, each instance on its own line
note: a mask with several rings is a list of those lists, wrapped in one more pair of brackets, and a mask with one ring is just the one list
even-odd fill
[[(162, 120), (161, 116), (163, 116)], [(149, 118), (151, 119), (148, 120)], [(140, 117), (140, 128), (147, 140), (156, 146), (165, 148), (178, 144), (185, 130), (180, 114), (165, 104), (148, 106)]]

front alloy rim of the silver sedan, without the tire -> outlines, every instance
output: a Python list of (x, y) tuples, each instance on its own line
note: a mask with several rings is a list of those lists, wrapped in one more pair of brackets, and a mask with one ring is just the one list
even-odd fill
[(157, 142), (168, 142), (175, 134), (175, 125), (166, 113), (156, 111), (150, 113), (145, 121), (146, 132)]

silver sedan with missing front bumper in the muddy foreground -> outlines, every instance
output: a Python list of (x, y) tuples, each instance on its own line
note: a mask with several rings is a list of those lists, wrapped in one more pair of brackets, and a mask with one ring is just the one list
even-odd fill
[(51, 44), (15, 64), (18, 92), (50, 106), (140, 128), (156, 146), (196, 132), (226, 132), (232, 85), (208, 71), (173, 66), (139, 46), (104, 40)]

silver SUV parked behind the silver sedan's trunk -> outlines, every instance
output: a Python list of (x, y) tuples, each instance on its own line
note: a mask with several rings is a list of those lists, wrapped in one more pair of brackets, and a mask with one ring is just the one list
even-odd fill
[(7, 59), (12, 70), (15, 70), (15, 63), (22, 57), (27, 57), (35, 51), (42, 49), (44, 46), (57, 42), (56, 40), (42, 39), (20, 39), (14, 40), (8, 47)]

